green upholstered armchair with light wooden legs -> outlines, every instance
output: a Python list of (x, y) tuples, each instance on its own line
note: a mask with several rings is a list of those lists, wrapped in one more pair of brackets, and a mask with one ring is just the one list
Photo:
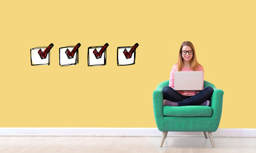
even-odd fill
[(204, 81), (204, 87), (212, 87), (214, 92), (210, 106), (163, 106), (162, 89), (169, 85), (169, 80), (157, 85), (153, 91), (153, 109), (157, 128), (162, 131), (162, 147), (168, 131), (202, 131), (205, 138), (210, 137), (212, 147), (215, 147), (212, 132), (219, 127), (221, 120), (223, 91), (216, 89), (210, 82)]

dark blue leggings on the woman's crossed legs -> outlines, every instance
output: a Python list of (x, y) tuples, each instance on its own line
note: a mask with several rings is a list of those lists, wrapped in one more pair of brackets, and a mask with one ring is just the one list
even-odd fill
[(212, 93), (214, 92), (214, 89), (212, 87), (206, 87), (205, 89), (200, 91), (198, 94), (191, 97), (183, 96), (182, 94), (175, 91), (173, 88), (169, 86), (164, 87), (162, 92), (164, 94), (164, 99), (177, 102), (178, 106), (187, 106), (187, 105), (199, 105), (200, 103), (203, 103), (204, 101), (209, 100), (212, 97)]

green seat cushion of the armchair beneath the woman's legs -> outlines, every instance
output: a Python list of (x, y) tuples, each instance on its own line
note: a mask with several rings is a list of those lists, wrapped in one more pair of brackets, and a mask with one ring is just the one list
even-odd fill
[(211, 117), (210, 106), (164, 106), (166, 117)]

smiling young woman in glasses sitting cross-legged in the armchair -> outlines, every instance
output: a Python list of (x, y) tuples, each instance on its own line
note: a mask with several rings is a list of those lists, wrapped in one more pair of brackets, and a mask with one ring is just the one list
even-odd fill
[(211, 98), (214, 89), (212, 89), (212, 87), (206, 87), (200, 92), (175, 91), (173, 89), (175, 71), (203, 71), (203, 66), (201, 66), (196, 60), (196, 52), (194, 50), (194, 45), (190, 41), (184, 41), (182, 43), (182, 46), (180, 47), (178, 62), (171, 69), (169, 86), (164, 87), (164, 89), (162, 90), (164, 94), (163, 103), (165, 106), (209, 106), (209, 99)]

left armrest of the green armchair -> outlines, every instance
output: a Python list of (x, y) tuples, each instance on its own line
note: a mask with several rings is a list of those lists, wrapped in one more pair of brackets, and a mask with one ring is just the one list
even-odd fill
[(153, 91), (153, 109), (155, 115), (155, 122), (157, 123), (157, 128), (162, 131), (164, 128), (164, 113), (163, 113), (163, 93), (162, 90)]

